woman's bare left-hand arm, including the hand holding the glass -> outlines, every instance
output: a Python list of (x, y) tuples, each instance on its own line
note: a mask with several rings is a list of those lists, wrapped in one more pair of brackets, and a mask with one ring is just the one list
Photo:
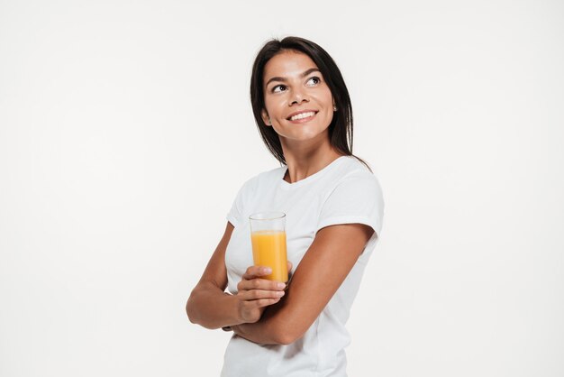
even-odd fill
[(227, 287), (225, 249), (232, 231), (233, 225), (228, 222), (222, 240), (186, 302), (186, 314), (190, 321), (206, 328), (256, 322), (265, 307), (279, 301), (281, 295), (278, 292), (283, 290), (277, 287), (275, 281), (257, 279), (269, 272), (256, 267), (252, 275), (248, 273), (243, 277), (252, 280), (251, 284), (247, 284), (248, 289), (240, 289), (236, 295), (224, 292)]

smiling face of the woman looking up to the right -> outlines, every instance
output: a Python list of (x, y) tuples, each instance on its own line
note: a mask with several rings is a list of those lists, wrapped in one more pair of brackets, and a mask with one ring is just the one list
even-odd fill
[(280, 52), (268, 60), (263, 83), (262, 119), (281, 138), (329, 140), (333, 99), (314, 60), (301, 52)]

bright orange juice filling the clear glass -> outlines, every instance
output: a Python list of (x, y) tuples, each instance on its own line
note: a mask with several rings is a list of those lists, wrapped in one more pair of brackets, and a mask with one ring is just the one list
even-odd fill
[(259, 230), (250, 234), (252, 259), (256, 266), (272, 269), (263, 279), (287, 282), (288, 267), (286, 253), (286, 232), (279, 230)]

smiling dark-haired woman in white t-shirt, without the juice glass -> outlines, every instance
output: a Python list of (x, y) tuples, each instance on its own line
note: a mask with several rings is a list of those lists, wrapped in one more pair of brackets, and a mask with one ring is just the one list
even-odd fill
[[(384, 207), (378, 180), (351, 153), (349, 92), (326, 51), (287, 37), (259, 51), (250, 97), (283, 166), (239, 191), (186, 312), (193, 323), (233, 331), (223, 376), (344, 376), (345, 323)], [(249, 216), (265, 210), (287, 214), (296, 266), (287, 287), (261, 279), (268, 266), (252, 265)]]

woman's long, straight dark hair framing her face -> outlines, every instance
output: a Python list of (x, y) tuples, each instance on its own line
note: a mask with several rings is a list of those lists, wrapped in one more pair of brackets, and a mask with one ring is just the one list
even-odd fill
[(352, 105), (350, 104), (349, 90), (342, 78), (341, 71), (335, 61), (332, 60), (332, 57), (321, 46), (313, 41), (299, 37), (286, 37), (281, 41), (277, 39), (268, 41), (260, 49), (252, 65), (250, 103), (255, 121), (259, 127), (260, 136), (262, 136), (262, 140), (267, 145), (268, 151), (272, 153), (277, 161), (286, 165), (278, 134), (273, 127), (268, 127), (264, 124), (261, 116), (261, 111), (265, 108), (263, 90), (264, 68), (268, 60), (283, 51), (302, 52), (309, 56), (311, 60), (314, 60), (315, 65), (317, 65), (325, 79), (327, 87), (331, 90), (335, 106), (337, 107), (337, 111), (333, 112), (332, 122), (329, 125), (329, 140), (338, 152), (352, 156)]

